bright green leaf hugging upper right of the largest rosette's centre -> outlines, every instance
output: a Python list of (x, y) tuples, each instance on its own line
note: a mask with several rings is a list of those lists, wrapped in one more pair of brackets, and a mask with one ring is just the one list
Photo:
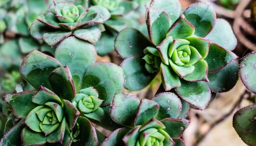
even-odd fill
[(193, 46), (196, 50), (202, 55), (203, 58), (206, 58), (209, 51), (210, 40), (191, 36), (186, 38), (190, 43), (189, 46)]

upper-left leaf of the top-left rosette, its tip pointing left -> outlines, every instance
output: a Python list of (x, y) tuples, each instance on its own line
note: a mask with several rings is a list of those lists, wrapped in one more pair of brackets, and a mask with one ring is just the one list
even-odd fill
[(37, 20), (39, 22), (42, 22), (42, 23), (46, 24), (47, 26), (50, 26), (50, 27), (53, 27), (53, 28), (60, 28), (61, 27), (60, 24), (59, 24), (59, 20), (52, 13), (46, 13), (46, 14), (43, 14), (43, 15), (39, 15), (37, 17)]

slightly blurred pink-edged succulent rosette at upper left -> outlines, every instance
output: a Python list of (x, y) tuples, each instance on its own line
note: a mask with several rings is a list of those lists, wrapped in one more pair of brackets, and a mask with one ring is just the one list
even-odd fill
[(102, 23), (109, 18), (108, 9), (101, 6), (89, 8), (88, 0), (71, 3), (54, 0), (49, 12), (38, 16), (39, 22), (30, 26), (30, 34), (35, 39), (44, 39), (50, 46), (70, 35), (95, 44), (104, 30)]

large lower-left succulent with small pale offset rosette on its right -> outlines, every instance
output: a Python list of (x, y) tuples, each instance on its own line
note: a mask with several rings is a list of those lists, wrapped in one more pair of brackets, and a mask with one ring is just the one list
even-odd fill
[[(99, 106), (110, 104), (114, 94), (123, 90), (124, 74), (117, 65), (95, 61), (94, 46), (75, 37), (59, 44), (55, 58), (37, 50), (29, 53), (20, 73), (38, 91), (4, 96), (24, 124), (8, 131), (0, 145), (98, 145), (101, 134), (96, 134), (90, 120), (102, 120)], [(9, 140), (19, 134), (21, 140)]]

